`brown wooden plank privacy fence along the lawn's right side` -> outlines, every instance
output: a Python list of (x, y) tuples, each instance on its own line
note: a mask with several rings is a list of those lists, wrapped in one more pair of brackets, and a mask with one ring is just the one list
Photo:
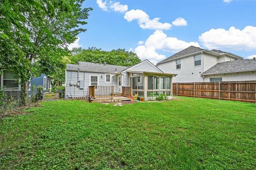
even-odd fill
[(173, 95), (256, 102), (256, 81), (173, 83)]

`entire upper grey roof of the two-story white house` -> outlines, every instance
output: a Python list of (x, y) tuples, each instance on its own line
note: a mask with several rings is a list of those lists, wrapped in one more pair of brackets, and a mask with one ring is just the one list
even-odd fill
[(223, 55), (223, 54), (229, 54), (229, 55), (231, 55), (231, 56), (233, 56), (235, 58), (242, 59), (241, 56), (235, 55), (233, 53), (221, 51), (221, 50), (215, 50), (215, 49), (214, 50), (205, 50), (203, 48), (199, 48), (199, 47), (195, 47), (195, 46), (189, 46), (189, 47), (185, 48), (184, 50), (182, 50), (182, 51), (180, 51), (180, 52), (178, 52), (176, 54), (173, 54), (169, 58), (164, 59), (164, 60), (158, 62), (157, 65), (161, 64), (161, 63), (164, 63), (164, 62), (176, 60), (178, 58), (182, 58), (183, 56), (187, 56), (187, 55), (190, 55), (190, 54), (197, 54), (197, 53), (200, 53), (200, 52), (208, 52), (208, 53), (211, 53), (211, 54), (215, 54), (217, 56)]

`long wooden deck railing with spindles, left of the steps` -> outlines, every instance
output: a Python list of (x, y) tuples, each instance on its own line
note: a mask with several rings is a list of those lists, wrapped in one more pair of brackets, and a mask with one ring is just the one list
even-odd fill
[(93, 98), (112, 98), (114, 86), (89, 86), (89, 96)]

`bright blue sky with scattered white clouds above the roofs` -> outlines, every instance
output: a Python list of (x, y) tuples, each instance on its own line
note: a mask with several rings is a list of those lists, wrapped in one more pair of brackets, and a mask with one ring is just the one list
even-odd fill
[(125, 48), (153, 62), (190, 45), (256, 56), (256, 1), (85, 0), (83, 7), (93, 8), (87, 31), (70, 47)]

